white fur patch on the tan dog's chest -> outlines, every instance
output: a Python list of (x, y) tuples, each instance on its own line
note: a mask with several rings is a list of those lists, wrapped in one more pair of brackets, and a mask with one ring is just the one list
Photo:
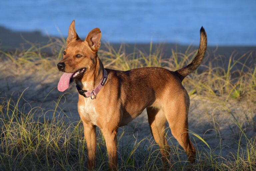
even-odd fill
[(90, 97), (84, 98), (84, 104), (78, 108), (81, 115), (83, 115), (88, 121), (91, 121), (93, 125), (97, 126), (97, 118), (99, 114), (95, 111), (93, 100)]

